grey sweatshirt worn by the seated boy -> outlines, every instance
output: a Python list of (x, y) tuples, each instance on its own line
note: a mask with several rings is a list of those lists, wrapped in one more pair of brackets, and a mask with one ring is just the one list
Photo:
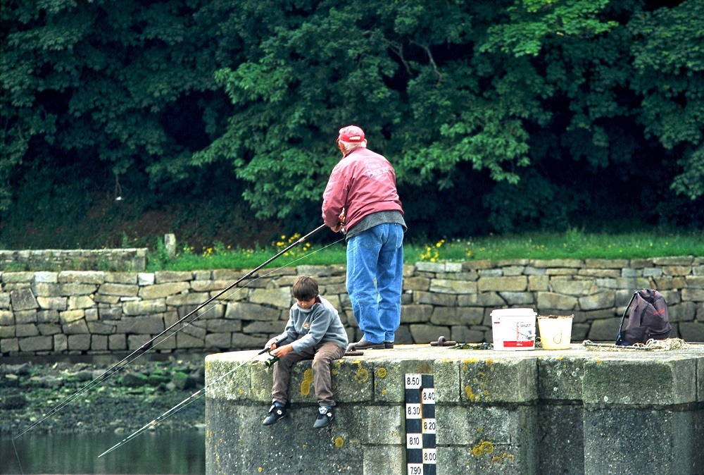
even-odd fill
[(280, 340), (286, 336), (286, 343), (291, 343), (296, 353), (325, 341), (347, 347), (347, 333), (337, 310), (320, 295), (317, 300), (320, 302), (315, 302), (308, 310), (298, 307), (298, 303), (293, 304), (284, 333), (276, 337)]

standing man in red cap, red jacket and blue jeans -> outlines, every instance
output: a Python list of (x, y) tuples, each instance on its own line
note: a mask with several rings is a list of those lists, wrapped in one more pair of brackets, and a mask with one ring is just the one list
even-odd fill
[[(332, 170), (322, 218), (347, 240), (347, 292), (364, 335), (348, 350), (393, 348), (401, 322), (403, 221), (396, 172), (383, 156), (367, 149), (364, 131), (341, 128), (342, 159)], [(376, 283), (376, 285), (375, 285)]]

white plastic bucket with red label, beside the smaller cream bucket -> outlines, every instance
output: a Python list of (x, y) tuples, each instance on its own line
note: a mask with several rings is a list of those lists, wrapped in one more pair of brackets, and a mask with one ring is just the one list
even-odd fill
[(500, 309), (491, 312), (494, 350), (532, 350), (535, 344), (533, 309)]

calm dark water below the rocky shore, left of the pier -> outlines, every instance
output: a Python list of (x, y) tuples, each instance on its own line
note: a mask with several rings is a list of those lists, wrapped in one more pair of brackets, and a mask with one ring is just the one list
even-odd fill
[(205, 474), (202, 431), (146, 432), (98, 458), (129, 434), (31, 434), (0, 439), (0, 474)]

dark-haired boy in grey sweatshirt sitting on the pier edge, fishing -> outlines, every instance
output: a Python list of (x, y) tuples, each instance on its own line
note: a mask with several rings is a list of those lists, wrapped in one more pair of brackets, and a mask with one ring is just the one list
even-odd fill
[[(296, 303), (291, 307), (284, 333), (275, 336), (265, 345), (271, 349), (271, 354), (279, 357), (279, 361), (273, 366), (273, 404), (262, 424), (270, 426), (288, 415), (285, 406), (291, 365), (303, 359), (313, 359), (313, 385), (319, 406), (313, 428), (322, 428), (335, 417), (332, 410), (335, 401), (332, 398), (330, 362), (344, 356), (348, 343), (347, 333), (335, 307), (318, 295), (318, 283), (314, 278), (297, 278), (291, 290)], [(291, 343), (277, 347), (275, 342), (284, 337)]]

